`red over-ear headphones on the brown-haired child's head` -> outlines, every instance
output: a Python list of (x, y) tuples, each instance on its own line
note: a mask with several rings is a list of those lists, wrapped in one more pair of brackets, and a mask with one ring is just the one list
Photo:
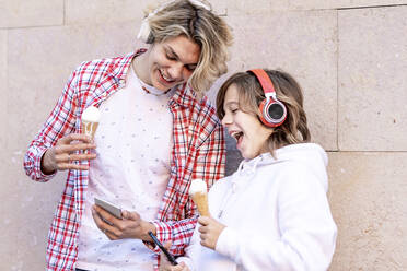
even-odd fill
[(278, 127), (282, 125), (287, 118), (286, 106), (277, 99), (275, 86), (270, 76), (263, 69), (248, 70), (253, 73), (261, 85), (266, 98), (260, 103), (260, 120), (267, 127)]

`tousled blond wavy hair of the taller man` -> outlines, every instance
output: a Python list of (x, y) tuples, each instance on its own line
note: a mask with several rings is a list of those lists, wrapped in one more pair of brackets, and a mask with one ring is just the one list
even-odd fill
[[(201, 2), (201, 1), (200, 1)], [(232, 34), (228, 24), (202, 4), (188, 0), (176, 0), (148, 19), (150, 35), (148, 44), (185, 35), (200, 46), (197, 68), (189, 78), (191, 89), (198, 94), (208, 91), (220, 75), (228, 71), (228, 47), (232, 44)]]

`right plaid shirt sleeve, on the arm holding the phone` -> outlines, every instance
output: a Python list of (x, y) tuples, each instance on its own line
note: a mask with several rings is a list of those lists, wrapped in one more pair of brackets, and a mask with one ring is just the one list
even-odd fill
[[(208, 185), (208, 189), (214, 184), (214, 181), (224, 176), (225, 169), (225, 141), (223, 128), (216, 117), (214, 110), (211, 110), (211, 114), (213, 115), (206, 120), (211, 121), (211, 125), (207, 126), (207, 123), (202, 123), (202, 127), (214, 128), (209, 133), (209, 137), (197, 149), (191, 177), (193, 179), (205, 180)], [(187, 197), (184, 207), (185, 216), (187, 219), (172, 222), (153, 222), (156, 228), (158, 238), (162, 243), (172, 240), (171, 252), (176, 256), (184, 255), (184, 249), (189, 244), (189, 239), (194, 234), (198, 219), (197, 208), (190, 200), (187, 191), (184, 197)]]

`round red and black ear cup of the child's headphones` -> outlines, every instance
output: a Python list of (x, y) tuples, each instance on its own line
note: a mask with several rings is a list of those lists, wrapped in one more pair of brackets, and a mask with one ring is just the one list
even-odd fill
[(260, 120), (267, 127), (278, 127), (284, 122), (287, 118), (286, 106), (272, 98), (265, 98), (259, 105), (259, 110), (261, 113)]

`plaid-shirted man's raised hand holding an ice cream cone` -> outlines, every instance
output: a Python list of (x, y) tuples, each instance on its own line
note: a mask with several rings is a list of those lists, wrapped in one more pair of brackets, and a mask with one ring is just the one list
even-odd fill
[(96, 158), (95, 153), (89, 152), (89, 150), (95, 148), (96, 145), (89, 136), (82, 133), (68, 134), (59, 139), (55, 146), (44, 153), (40, 169), (46, 175), (53, 174), (56, 170), (86, 170), (89, 169), (88, 166), (73, 164), (72, 162)]

